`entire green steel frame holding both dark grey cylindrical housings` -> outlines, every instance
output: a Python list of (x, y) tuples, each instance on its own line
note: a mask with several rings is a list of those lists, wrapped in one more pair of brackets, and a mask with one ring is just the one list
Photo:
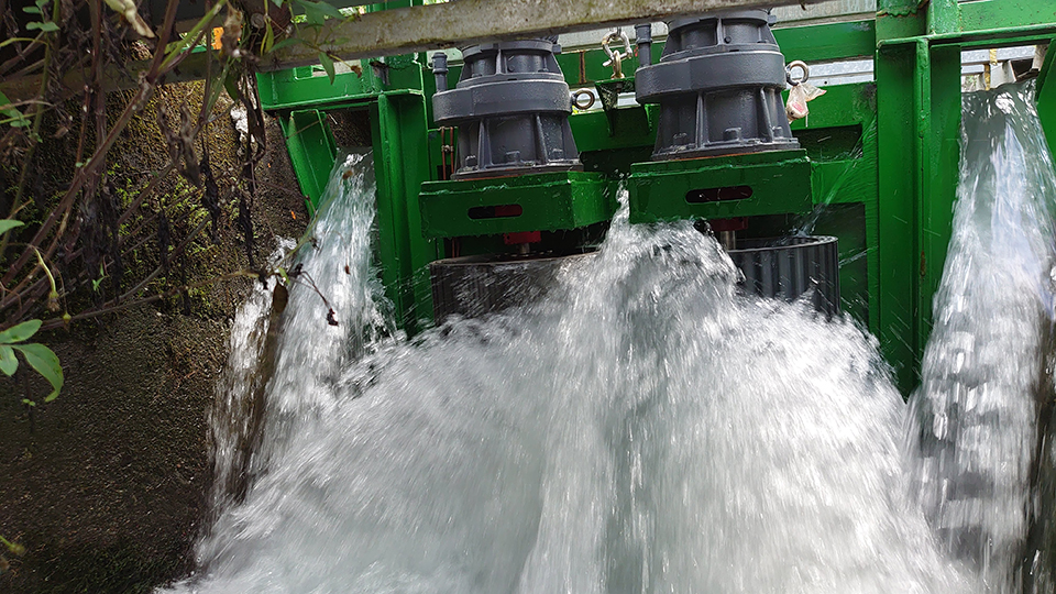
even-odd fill
[[(758, 237), (796, 228), (838, 237), (844, 310), (879, 338), (908, 392), (919, 381), (950, 237), (961, 52), (1048, 43), (1056, 36), (1056, 0), (879, 0), (878, 8), (876, 19), (774, 31), (790, 62), (872, 58), (876, 65), (875, 81), (827, 87), (811, 103), (810, 117), (792, 127), (802, 146), (796, 152), (650, 163), (657, 112), (615, 105), (612, 98), (632, 89), (634, 79), (610, 80), (602, 50), (558, 56), (570, 87), (595, 87), (604, 107), (570, 118), (585, 168), (575, 175), (444, 182), (453, 131), (432, 123), (436, 89), (425, 54), (363, 59), (362, 75), (338, 74), (333, 84), (319, 66), (262, 74), (261, 100), (279, 117), (309, 209), (338, 150), (328, 114), (366, 112), (377, 177), (377, 260), (410, 333), (432, 323), (428, 264), (453, 255), (448, 239), (464, 238), (479, 252), (501, 251), (496, 235), (505, 232), (596, 224), (610, 218), (623, 183), (636, 222), (751, 217), (749, 233)], [(653, 44), (654, 55), (661, 50), (662, 43)], [(1037, 81), (1050, 139), (1054, 55)], [(628, 58), (624, 72), (634, 66)], [(453, 65), (449, 78), (458, 74)], [(752, 187), (751, 199), (681, 200), (689, 189), (740, 185)], [(595, 199), (598, 194), (606, 199)], [(512, 204), (524, 208), (521, 219), (465, 216), (466, 206)]]

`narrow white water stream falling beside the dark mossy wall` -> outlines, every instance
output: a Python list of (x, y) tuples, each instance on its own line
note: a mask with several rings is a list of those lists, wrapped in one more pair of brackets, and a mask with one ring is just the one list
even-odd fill
[(304, 417), (336, 413), (343, 371), (397, 336), (372, 260), (374, 188), (370, 151), (337, 160), (322, 215), (288, 273), (294, 286), (266, 392), (267, 439), (254, 453), (253, 474), (267, 470)]

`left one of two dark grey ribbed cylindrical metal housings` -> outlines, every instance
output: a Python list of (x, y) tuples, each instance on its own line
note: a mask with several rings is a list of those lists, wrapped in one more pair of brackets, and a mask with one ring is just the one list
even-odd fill
[(556, 42), (549, 37), (464, 47), (462, 76), (451, 90), (447, 58), (435, 55), (433, 118), (459, 128), (454, 179), (582, 169)]

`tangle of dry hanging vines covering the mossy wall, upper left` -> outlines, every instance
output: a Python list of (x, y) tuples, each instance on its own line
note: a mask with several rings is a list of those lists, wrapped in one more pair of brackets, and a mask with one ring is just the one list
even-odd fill
[[(256, 65), (283, 44), (316, 43), (310, 33), (326, 19), (346, 18), (296, 1), (307, 14), (300, 23), (268, 0), (245, 29), (245, 6), (207, 1), (180, 34), (177, 0), (154, 26), (132, 0), (0, 0), (0, 90), (10, 95), (0, 92), (0, 336), (31, 321), (35, 333), (177, 296), (186, 309), (190, 290), (273, 275), (261, 267), (252, 217), (267, 148)], [(160, 89), (189, 58), (205, 69), (201, 100), (174, 109), (158, 100)], [(113, 92), (122, 87), (130, 90)], [(120, 175), (111, 153), (148, 106), (164, 158)], [(249, 134), (241, 164), (219, 170), (204, 131), (233, 108), (244, 110)], [(56, 145), (73, 162), (66, 179), (43, 174), (56, 168), (48, 154)], [(246, 266), (188, 274), (188, 250), (221, 241), (224, 228), (238, 230)], [(144, 265), (145, 253), (156, 254), (153, 264)], [(0, 345), (0, 372), (14, 373), (8, 355), (23, 351)]]

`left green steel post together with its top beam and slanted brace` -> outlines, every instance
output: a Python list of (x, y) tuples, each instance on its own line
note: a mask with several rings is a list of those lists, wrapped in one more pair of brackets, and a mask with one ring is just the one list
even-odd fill
[[(372, 6), (384, 10), (420, 6), (395, 0)], [(332, 112), (365, 112), (377, 180), (376, 257), (382, 282), (400, 326), (419, 331), (431, 318), (428, 264), (442, 257), (440, 244), (422, 233), (418, 191), (430, 178), (431, 155), (425, 56), (402, 55), (356, 61), (333, 81), (321, 66), (257, 75), (261, 103), (283, 129), (290, 163), (310, 215), (319, 204), (338, 156), (330, 124)], [(435, 174), (433, 174), (435, 175)]]

